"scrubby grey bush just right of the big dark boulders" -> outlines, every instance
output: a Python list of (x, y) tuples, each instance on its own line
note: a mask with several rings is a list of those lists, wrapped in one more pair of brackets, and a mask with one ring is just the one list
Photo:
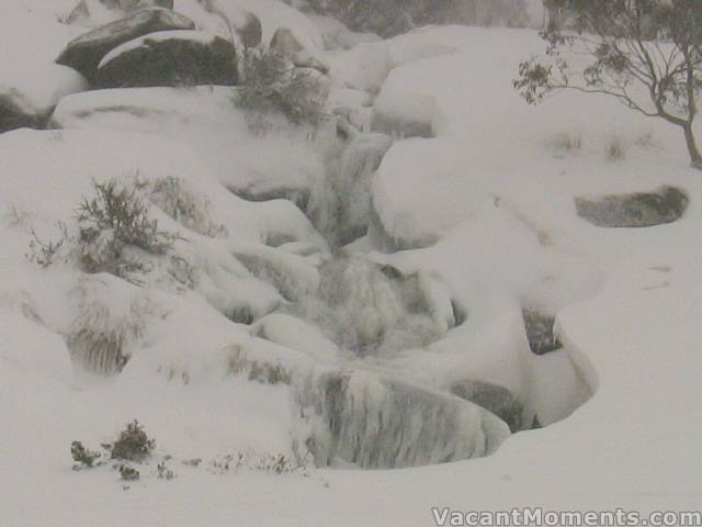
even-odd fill
[(236, 105), (247, 111), (249, 126), (264, 132), (267, 117), (281, 112), (294, 124), (325, 119), (327, 88), (314, 71), (296, 68), (280, 53), (248, 51)]

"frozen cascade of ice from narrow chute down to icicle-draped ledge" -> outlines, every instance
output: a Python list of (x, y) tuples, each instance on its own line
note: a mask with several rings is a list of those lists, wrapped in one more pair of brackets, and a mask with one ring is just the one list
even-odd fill
[[(487, 456), (511, 433), (558, 421), (592, 393), (587, 361), (557, 341), (553, 317), (510, 302), (473, 317), (441, 277), (381, 261), (366, 236), (377, 221), (370, 188), (390, 145), (381, 134), (348, 141), (307, 211), (333, 254), (319, 267), (317, 291), (254, 324), (257, 336), (316, 359), (292, 384), (296, 448), (319, 466)], [(489, 343), (495, 318), (506, 324), (495, 357), (483, 349), (472, 365), (469, 343)]]

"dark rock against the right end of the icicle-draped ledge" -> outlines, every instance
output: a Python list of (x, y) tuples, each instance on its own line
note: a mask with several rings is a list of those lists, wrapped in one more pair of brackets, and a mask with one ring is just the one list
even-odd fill
[(497, 415), (512, 433), (524, 429), (524, 406), (506, 388), (468, 380), (453, 384), (451, 393)]

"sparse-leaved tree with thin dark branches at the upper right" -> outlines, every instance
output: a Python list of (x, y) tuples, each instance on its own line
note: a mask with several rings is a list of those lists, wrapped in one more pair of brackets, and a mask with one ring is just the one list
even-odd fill
[(702, 0), (544, 0), (557, 23), (542, 32), (546, 56), (519, 66), (514, 88), (531, 104), (563, 89), (613, 97), (680, 126), (691, 165), (702, 87)]

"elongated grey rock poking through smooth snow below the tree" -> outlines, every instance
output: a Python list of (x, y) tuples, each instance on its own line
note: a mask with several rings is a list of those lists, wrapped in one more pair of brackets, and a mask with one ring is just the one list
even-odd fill
[(598, 227), (652, 227), (679, 220), (688, 208), (688, 195), (675, 187), (654, 192), (576, 198), (578, 216)]

